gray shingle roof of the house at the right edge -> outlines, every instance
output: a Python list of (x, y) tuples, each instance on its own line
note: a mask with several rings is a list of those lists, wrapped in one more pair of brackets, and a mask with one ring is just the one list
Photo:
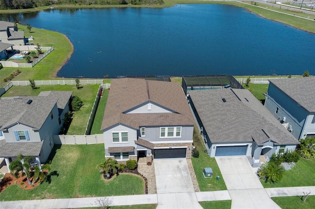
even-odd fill
[(315, 112), (315, 77), (271, 79), (269, 81), (308, 112)]

